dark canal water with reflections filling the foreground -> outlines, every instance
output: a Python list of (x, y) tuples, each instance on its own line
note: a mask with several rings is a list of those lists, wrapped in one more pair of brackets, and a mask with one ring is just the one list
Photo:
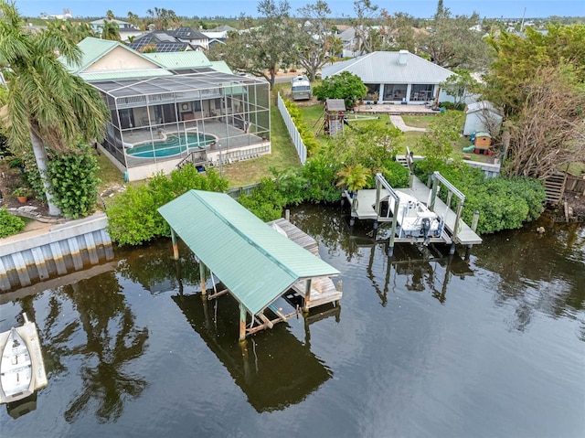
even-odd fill
[(342, 272), (341, 305), (242, 345), (237, 304), (202, 300), (168, 240), (0, 295), (0, 330), (27, 312), (48, 370), (0, 406), (2, 437), (585, 436), (584, 227), (388, 259), (388, 231), (350, 231), (338, 206), (292, 221)]

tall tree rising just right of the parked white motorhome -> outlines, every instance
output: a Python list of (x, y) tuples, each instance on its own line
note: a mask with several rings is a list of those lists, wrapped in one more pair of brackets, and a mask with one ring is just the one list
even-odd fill
[(314, 82), (317, 70), (324, 66), (329, 57), (339, 53), (333, 51), (335, 41), (331, 34), (332, 23), (328, 18), (331, 9), (323, 0), (317, 0), (314, 5), (306, 5), (298, 12), (301, 22), (298, 25), (294, 47), (300, 64)]

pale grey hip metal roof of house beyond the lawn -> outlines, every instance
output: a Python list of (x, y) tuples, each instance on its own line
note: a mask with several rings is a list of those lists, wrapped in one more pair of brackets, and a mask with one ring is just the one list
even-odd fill
[(322, 69), (323, 78), (334, 76), (342, 71), (359, 76), (364, 83), (415, 83), (437, 84), (452, 74), (431, 61), (406, 52), (406, 64), (399, 64), (400, 52), (372, 52), (361, 57), (336, 62)]

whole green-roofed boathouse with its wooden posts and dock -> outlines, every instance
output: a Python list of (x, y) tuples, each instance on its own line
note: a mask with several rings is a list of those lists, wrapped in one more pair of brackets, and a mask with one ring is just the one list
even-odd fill
[[(270, 226), (229, 195), (201, 190), (190, 190), (158, 211), (171, 227), (175, 258), (176, 236), (197, 256), (202, 294), (207, 294), (207, 267), (226, 286), (207, 298), (229, 293), (239, 302), (240, 341), (297, 314), (283, 315), (273, 305), (291, 289), (303, 295), (304, 311), (341, 299), (341, 291), (331, 286), (329, 278), (340, 272), (321, 260), (318, 252), (315, 255), (289, 239), (289, 232), (304, 242), (311, 239), (292, 224)], [(267, 308), (275, 319), (264, 315)]]

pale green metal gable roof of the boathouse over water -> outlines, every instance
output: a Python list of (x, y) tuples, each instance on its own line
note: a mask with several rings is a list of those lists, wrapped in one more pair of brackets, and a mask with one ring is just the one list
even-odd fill
[(253, 315), (299, 279), (339, 273), (227, 194), (190, 190), (158, 211)]

